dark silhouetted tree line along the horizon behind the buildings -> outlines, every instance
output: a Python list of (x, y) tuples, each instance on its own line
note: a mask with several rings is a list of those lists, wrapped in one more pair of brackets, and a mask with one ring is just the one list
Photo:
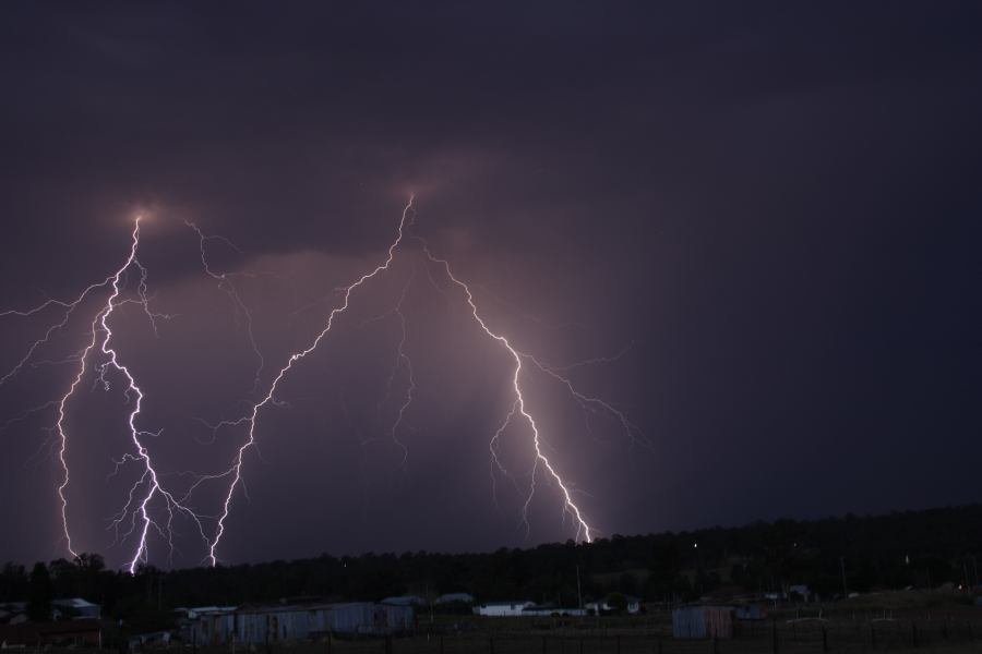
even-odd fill
[(483, 554), (367, 553), (160, 570), (110, 570), (95, 554), (73, 561), (8, 562), (0, 602), (27, 601), (34, 619), (53, 597), (84, 597), (133, 630), (170, 625), (179, 606), (241, 605), (284, 597), (378, 601), (467, 592), (478, 602), (531, 600), (575, 606), (610, 593), (647, 602), (692, 601), (722, 589), (781, 593), (806, 584), (827, 598), (876, 589), (978, 585), (982, 505), (781, 519), (738, 528), (543, 544)]

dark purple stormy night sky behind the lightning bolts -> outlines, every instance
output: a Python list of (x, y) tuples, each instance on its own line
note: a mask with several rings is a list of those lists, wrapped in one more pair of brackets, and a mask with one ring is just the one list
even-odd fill
[[(155, 335), (123, 302), (111, 343), (173, 493), (228, 468), (244, 432), (205, 423), (248, 414), (336, 289), (384, 263), (415, 193), (411, 233), (489, 327), (637, 425), (524, 368), (544, 452), (596, 535), (982, 500), (975, 2), (0, 11), (0, 311), (112, 275), (144, 216), (149, 307), (171, 317)], [(229, 240), (206, 241), (206, 261), (251, 316), (256, 387), (249, 316), (185, 220)], [(407, 238), (285, 376), (221, 561), (576, 536), (541, 467), (522, 523), (527, 423), (500, 441), (514, 484), (492, 468), (514, 361), (441, 270)], [(135, 299), (135, 268), (123, 281)], [(0, 560), (67, 556), (48, 403), (110, 290), (0, 385)], [(0, 375), (62, 316), (0, 316)], [(123, 566), (140, 521), (117, 543), (111, 522), (142, 469), (110, 476), (135, 451), (133, 398), (107, 377), (108, 391), (89, 370), (67, 404), (67, 514), (76, 550)], [(227, 488), (189, 500), (207, 537)], [(201, 564), (196, 529), (175, 518), (172, 556), (151, 530), (149, 561)]]

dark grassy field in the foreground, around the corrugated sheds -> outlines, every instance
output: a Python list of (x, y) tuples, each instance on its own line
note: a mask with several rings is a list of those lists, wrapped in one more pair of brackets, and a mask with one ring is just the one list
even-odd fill
[[(864, 595), (771, 609), (731, 639), (676, 640), (671, 611), (637, 617), (478, 618), (420, 613), (412, 635), (225, 647), (171, 646), (172, 654), (982, 654), (982, 607), (950, 593)], [(57, 654), (53, 650), (46, 650)], [(104, 650), (105, 652), (105, 650)], [(146, 650), (143, 654), (164, 654)], [(83, 654), (82, 650), (64, 654)], [(94, 654), (94, 653), (93, 653)]]

